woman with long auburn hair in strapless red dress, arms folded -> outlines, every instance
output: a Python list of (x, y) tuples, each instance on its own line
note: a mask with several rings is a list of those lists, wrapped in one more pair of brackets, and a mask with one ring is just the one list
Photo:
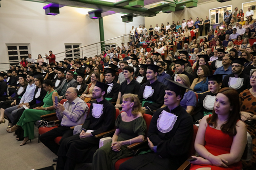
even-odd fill
[(238, 93), (223, 88), (216, 96), (211, 115), (202, 118), (194, 147), (200, 157), (192, 156), (190, 170), (242, 170), (247, 132), (240, 120)]

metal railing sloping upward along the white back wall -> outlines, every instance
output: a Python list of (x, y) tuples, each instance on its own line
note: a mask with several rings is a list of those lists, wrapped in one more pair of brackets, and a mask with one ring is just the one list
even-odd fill
[[(70, 59), (74, 59), (76, 57), (94, 57), (95, 55), (100, 55), (101, 52), (103, 50), (108, 50), (111, 49), (112, 47), (114, 47), (115, 49), (117, 49), (117, 47), (121, 47), (121, 43), (124, 43), (124, 45), (127, 45), (127, 42), (130, 41), (130, 35), (132, 33), (129, 34), (124, 34), (115, 38), (111, 38), (105, 41), (100, 41), (100, 42), (96, 42), (93, 44), (89, 44), (89, 45), (85, 45), (82, 47), (78, 47), (78, 48), (74, 48), (74, 49), (70, 49), (61, 53), (57, 53), (55, 54), (56, 56), (56, 61), (59, 60), (63, 60), (63, 58), (70, 58)], [(74, 52), (76, 50), (79, 50), (79, 52)], [(122, 49), (121, 49), (122, 50)], [(75, 54), (72, 55), (72, 57), (69, 55), (70, 54)], [(45, 58), (45, 57), (42, 57)], [(35, 59), (37, 60), (37, 59)], [(17, 63), (17, 61), (15, 62), (0, 62), (0, 64), (13, 64), (13, 63)], [(8, 68), (8, 67), (6, 67)], [(3, 68), (5, 69), (5, 68)]]

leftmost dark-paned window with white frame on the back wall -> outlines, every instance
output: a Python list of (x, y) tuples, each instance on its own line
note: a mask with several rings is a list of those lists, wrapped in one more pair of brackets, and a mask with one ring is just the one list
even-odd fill
[(10, 65), (19, 65), (22, 58), (28, 58), (29, 44), (6, 44)]

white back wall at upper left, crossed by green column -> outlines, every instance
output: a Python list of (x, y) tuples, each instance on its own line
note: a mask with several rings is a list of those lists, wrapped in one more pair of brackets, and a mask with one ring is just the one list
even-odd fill
[[(49, 50), (54, 54), (64, 52), (65, 43), (85, 46), (100, 41), (98, 20), (85, 15), (91, 9), (64, 6), (59, 15), (48, 16), (43, 9), (45, 3), (24, 0), (1, 0), (0, 3), (0, 62), (9, 62), (6, 44), (28, 43), (29, 52), (37, 58)], [(133, 24), (144, 24), (144, 17), (136, 17), (133, 23), (126, 24), (121, 16), (103, 18), (105, 39), (129, 33)], [(8, 67), (0, 64), (0, 70)]]

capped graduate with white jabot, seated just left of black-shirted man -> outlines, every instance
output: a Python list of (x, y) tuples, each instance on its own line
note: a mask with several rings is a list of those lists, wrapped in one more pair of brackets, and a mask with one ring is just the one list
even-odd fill
[(120, 85), (114, 81), (117, 71), (112, 68), (106, 68), (105, 70), (105, 81), (108, 85), (105, 99), (109, 102), (116, 102), (120, 88)]

